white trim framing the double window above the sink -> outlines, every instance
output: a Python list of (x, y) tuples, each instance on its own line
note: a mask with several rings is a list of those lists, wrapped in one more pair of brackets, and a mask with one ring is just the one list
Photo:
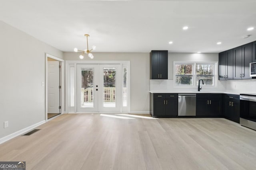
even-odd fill
[[(176, 85), (176, 64), (193, 64), (192, 66), (192, 85)], [(173, 86), (174, 88), (195, 88), (196, 85), (196, 64), (213, 64), (213, 85), (202, 85), (205, 88), (216, 88), (217, 87), (217, 76), (218, 76), (218, 61), (173, 61)], [(178, 75), (178, 74), (177, 74)], [(206, 76), (206, 75), (205, 75)], [(200, 84), (201, 86), (201, 84)]]

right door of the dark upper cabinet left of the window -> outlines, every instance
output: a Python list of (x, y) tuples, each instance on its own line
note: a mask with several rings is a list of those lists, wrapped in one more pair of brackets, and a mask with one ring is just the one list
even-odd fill
[(160, 79), (168, 79), (168, 51), (159, 51), (158, 57)]

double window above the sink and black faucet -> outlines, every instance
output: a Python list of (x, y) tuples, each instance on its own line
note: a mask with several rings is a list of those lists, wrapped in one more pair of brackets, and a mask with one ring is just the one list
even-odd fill
[(175, 86), (198, 86), (198, 80), (204, 80), (203, 86), (216, 85), (217, 62), (176, 62), (174, 61)]

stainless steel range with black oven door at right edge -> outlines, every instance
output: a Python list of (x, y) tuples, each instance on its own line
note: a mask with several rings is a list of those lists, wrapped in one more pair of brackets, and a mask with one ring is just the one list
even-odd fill
[(240, 125), (256, 130), (256, 94), (240, 94)]

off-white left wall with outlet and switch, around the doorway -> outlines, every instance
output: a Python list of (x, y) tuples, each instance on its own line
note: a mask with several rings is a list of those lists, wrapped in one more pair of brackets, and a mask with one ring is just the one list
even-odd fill
[[(0, 21), (0, 138), (45, 120), (46, 53), (62, 51)], [(9, 127), (4, 129), (4, 121)]]

